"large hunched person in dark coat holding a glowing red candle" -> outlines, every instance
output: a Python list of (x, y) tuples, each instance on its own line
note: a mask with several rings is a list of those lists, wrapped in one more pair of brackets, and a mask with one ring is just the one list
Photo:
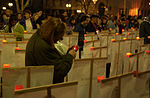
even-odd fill
[(64, 82), (76, 56), (73, 49), (61, 55), (54, 46), (62, 40), (65, 30), (66, 26), (59, 18), (50, 18), (33, 34), (26, 47), (25, 65), (54, 65), (54, 84)]

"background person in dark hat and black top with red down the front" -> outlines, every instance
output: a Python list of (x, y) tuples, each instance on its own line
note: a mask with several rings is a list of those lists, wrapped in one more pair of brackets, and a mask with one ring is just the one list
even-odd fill
[(101, 31), (100, 26), (97, 25), (97, 21), (98, 21), (98, 16), (97, 15), (92, 15), (90, 22), (88, 23), (87, 27), (86, 27), (86, 31), (87, 32), (95, 32), (96, 31)]

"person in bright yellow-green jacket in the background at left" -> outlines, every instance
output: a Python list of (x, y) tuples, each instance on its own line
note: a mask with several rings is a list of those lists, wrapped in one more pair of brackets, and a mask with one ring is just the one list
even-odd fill
[(17, 15), (10, 16), (9, 24), (6, 27), (6, 32), (15, 33), (16, 41), (22, 41), (24, 38), (24, 27), (18, 22)]

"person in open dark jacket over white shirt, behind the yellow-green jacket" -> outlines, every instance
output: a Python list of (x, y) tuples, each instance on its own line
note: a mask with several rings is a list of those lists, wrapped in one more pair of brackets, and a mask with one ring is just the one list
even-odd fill
[(33, 29), (37, 29), (35, 21), (31, 17), (31, 11), (25, 10), (24, 11), (24, 17), (22, 21), (20, 22), (21, 25), (23, 25), (24, 29), (27, 32), (32, 32)]

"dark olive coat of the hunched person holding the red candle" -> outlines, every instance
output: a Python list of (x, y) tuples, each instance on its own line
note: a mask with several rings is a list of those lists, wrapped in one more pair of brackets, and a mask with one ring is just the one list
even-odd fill
[(52, 48), (40, 36), (37, 31), (29, 40), (26, 47), (25, 65), (42, 66), (54, 65), (53, 83), (64, 81), (64, 77), (71, 69), (73, 56), (66, 54), (61, 56), (56, 48)]

